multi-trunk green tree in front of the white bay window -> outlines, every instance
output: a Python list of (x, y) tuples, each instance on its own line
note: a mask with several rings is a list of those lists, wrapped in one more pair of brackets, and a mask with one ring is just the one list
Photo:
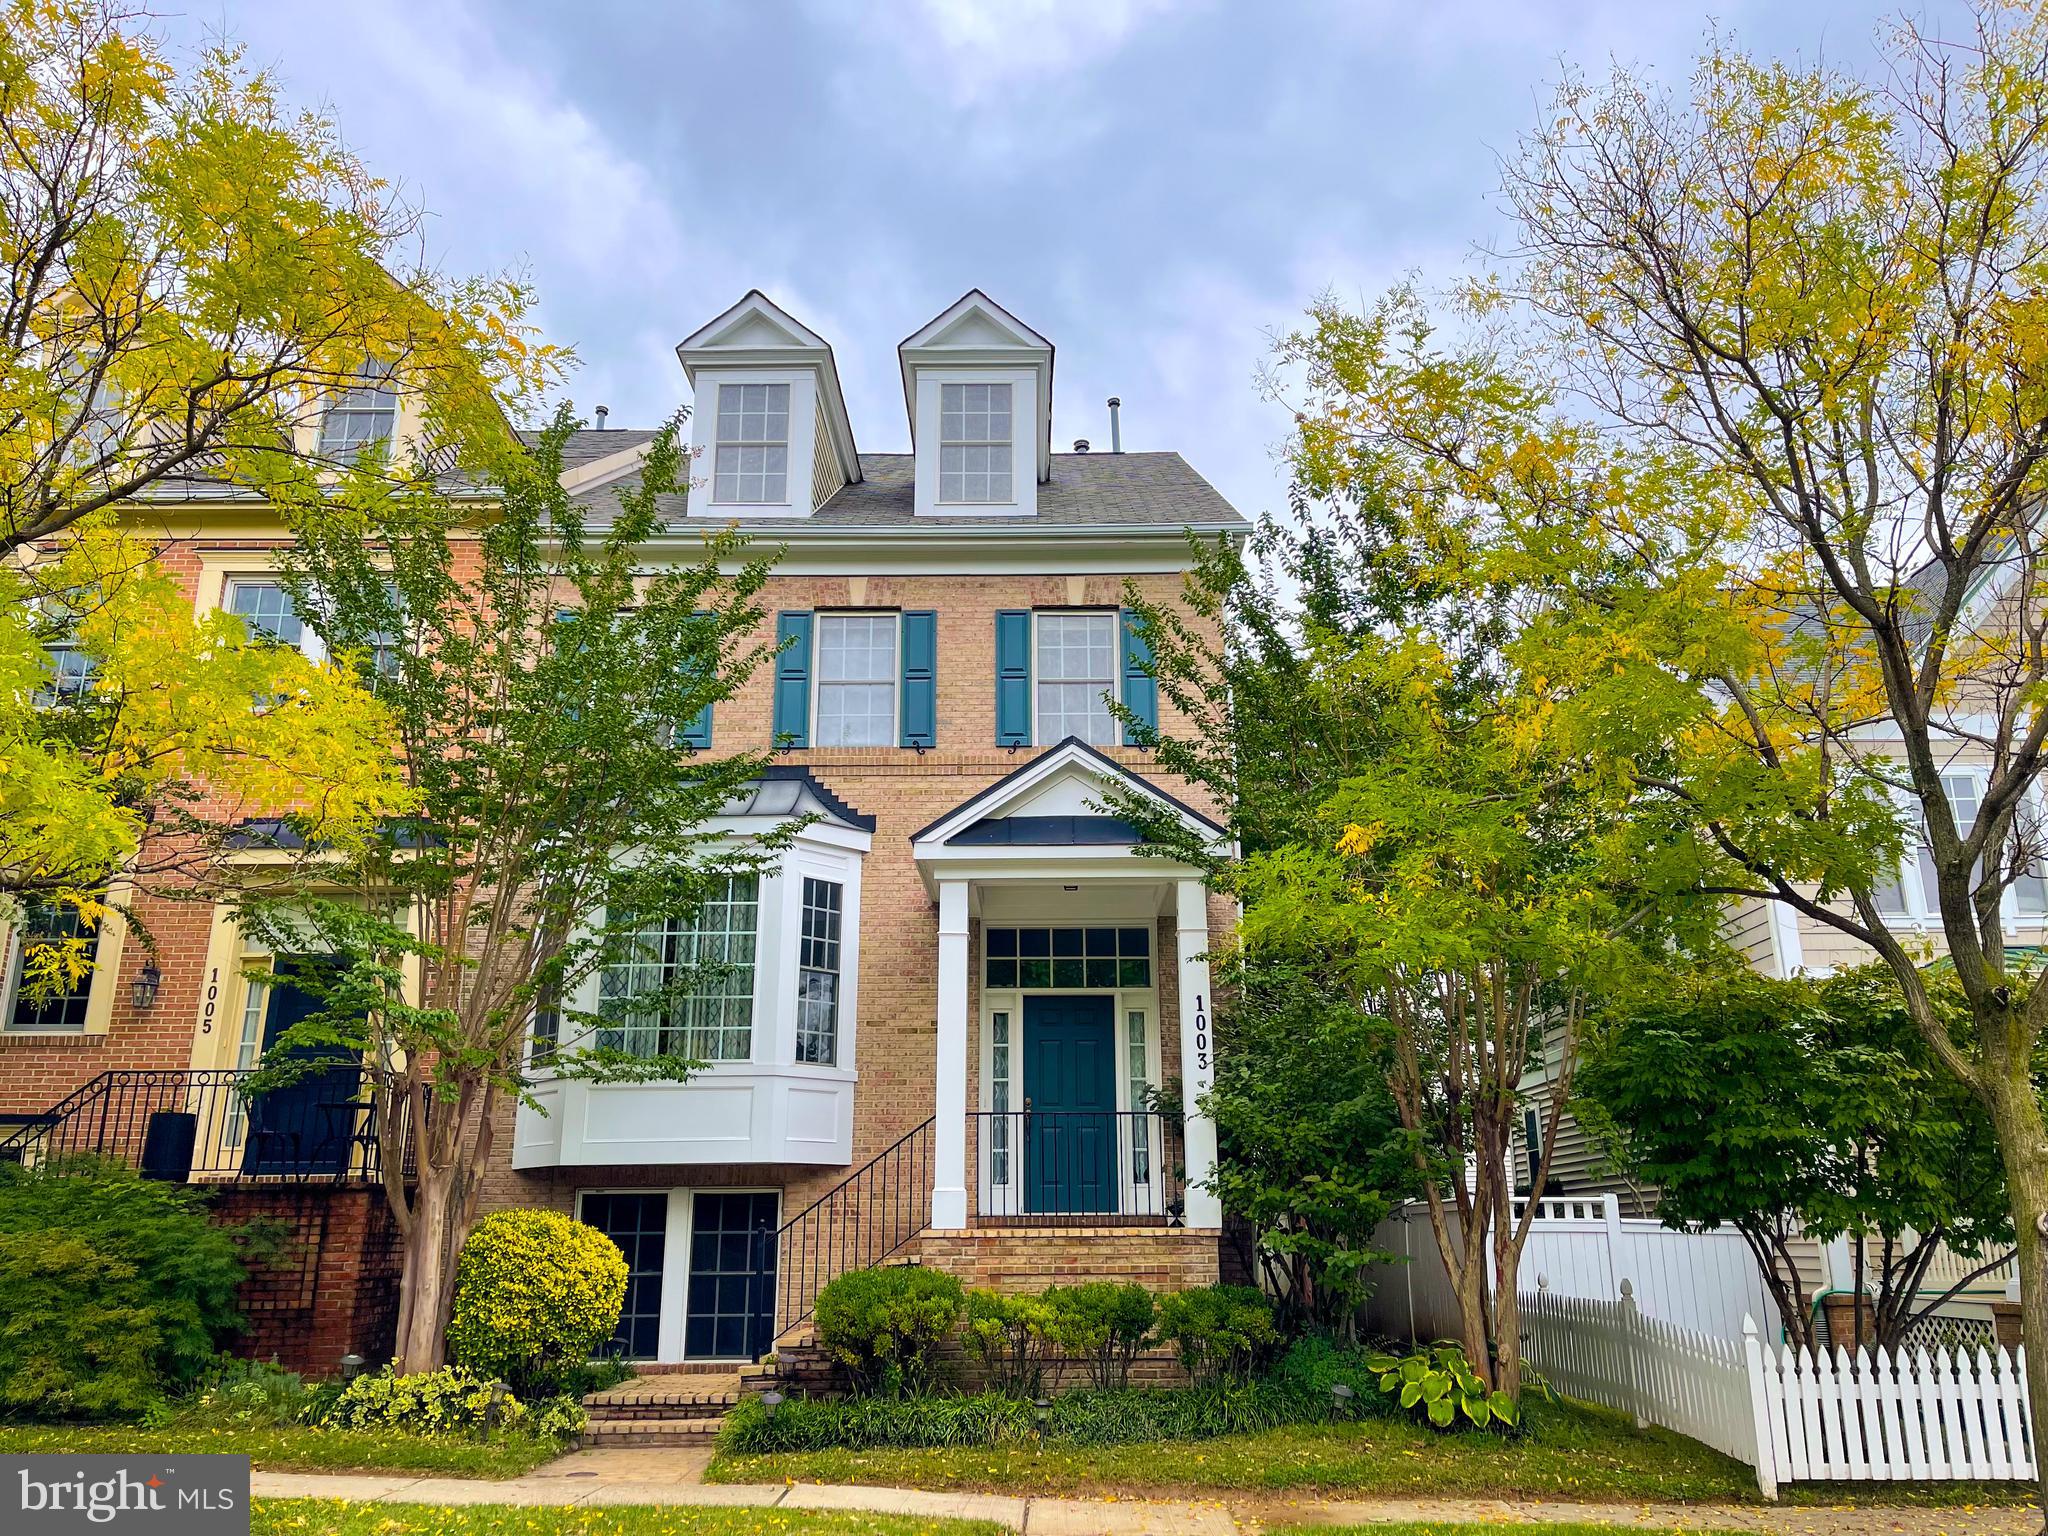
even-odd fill
[(659, 971), (643, 934), (686, 920), (786, 836), (721, 844), (707, 823), (764, 756), (700, 756), (678, 737), (772, 653), (758, 639), (770, 557), (709, 535), (694, 559), (645, 575), (664, 498), (686, 475), (678, 424), (600, 526), (561, 485), (571, 428), (559, 414), (500, 465), (487, 516), (432, 481), (358, 475), (291, 555), (303, 612), (375, 678), (397, 723), (412, 805), (385, 838), (309, 860), (346, 899), (307, 895), (301, 868), (242, 909), (279, 952), (311, 936), (344, 961), (299, 977), (322, 1010), (281, 1047), (367, 1063), (406, 1241), (401, 1372), (442, 1360), (500, 1116), (526, 1096), (528, 1032), (539, 1022), (535, 1055), (559, 1075), (684, 1077), (688, 1057), (635, 1055), (616, 1028), (664, 1016), (705, 967), (614, 999), (621, 1014), (569, 999), (610, 963)]

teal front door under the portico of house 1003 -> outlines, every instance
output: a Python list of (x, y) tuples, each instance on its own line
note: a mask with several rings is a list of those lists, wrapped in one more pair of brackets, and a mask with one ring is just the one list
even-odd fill
[(1024, 1208), (1116, 1210), (1116, 1010), (1024, 999)]

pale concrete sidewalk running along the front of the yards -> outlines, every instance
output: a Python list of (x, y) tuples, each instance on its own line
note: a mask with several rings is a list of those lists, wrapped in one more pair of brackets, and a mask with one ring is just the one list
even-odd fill
[[(580, 1462), (584, 1462), (580, 1466)], [(342, 1477), (256, 1473), (258, 1499), (514, 1505), (739, 1505), (866, 1509), (872, 1513), (993, 1520), (1026, 1536), (1241, 1536), (1268, 1526), (1368, 1526), (1391, 1520), (1464, 1524), (1597, 1522), (1741, 1530), (1769, 1536), (2034, 1536), (2032, 1505), (1974, 1509), (1772, 1507), (1677, 1503), (1548, 1503), (1540, 1499), (1315, 1499), (1231, 1495), (1178, 1499), (1040, 1499), (1001, 1493), (932, 1493), (819, 1483), (707, 1485), (690, 1452), (631, 1450), (565, 1456), (539, 1473), (483, 1483), (449, 1477)]]

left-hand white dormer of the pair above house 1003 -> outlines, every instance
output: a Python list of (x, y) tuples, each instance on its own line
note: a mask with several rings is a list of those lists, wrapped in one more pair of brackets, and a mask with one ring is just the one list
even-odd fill
[(692, 518), (807, 518), (860, 479), (831, 346), (760, 289), (676, 356), (696, 395)]

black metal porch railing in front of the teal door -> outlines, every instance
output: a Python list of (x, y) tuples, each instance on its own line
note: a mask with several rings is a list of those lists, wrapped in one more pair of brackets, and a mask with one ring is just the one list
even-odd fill
[(1188, 1210), (1182, 1126), (1153, 1110), (981, 1110), (967, 1116), (977, 1221), (1165, 1225)]

